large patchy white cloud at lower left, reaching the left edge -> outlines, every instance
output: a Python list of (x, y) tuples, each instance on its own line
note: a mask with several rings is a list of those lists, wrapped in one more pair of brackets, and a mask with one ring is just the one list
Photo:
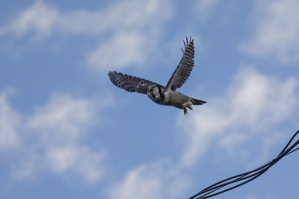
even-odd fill
[[(14, 179), (34, 178), (42, 171), (62, 176), (73, 173), (88, 183), (103, 178), (106, 153), (92, 150), (84, 144), (83, 138), (90, 127), (100, 121), (96, 114), (99, 107), (108, 105), (109, 101), (97, 100), (98, 106), (93, 99), (55, 94), (48, 104), (26, 116), (10, 108), (5, 93), (0, 96), (1, 112), (4, 113), (0, 119), (6, 124), (1, 125), (0, 138), (15, 149), (14, 153), (8, 151), (2, 155), (15, 157), (10, 158), (13, 159), (10, 166)], [(18, 125), (14, 125), (15, 115)], [(11, 140), (17, 140), (18, 144)]]

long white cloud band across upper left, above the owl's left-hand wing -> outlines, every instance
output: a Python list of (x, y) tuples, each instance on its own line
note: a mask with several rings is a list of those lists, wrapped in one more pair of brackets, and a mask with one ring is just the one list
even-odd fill
[(1, 27), (0, 36), (12, 34), (20, 38), (35, 33), (37, 41), (54, 32), (101, 37), (103, 43), (86, 53), (86, 61), (100, 70), (107, 70), (108, 67), (145, 62), (148, 52), (157, 49), (163, 24), (172, 13), (173, 6), (168, 0), (117, 1), (98, 11), (68, 13), (37, 1)]

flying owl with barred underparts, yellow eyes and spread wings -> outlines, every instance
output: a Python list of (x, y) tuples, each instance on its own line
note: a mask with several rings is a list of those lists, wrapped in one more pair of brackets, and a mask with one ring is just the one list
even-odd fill
[(184, 40), (183, 42), (185, 46), (184, 50), (181, 48), (183, 57), (165, 87), (143, 78), (116, 71), (109, 71), (108, 75), (110, 80), (115, 86), (126, 91), (147, 94), (147, 96), (157, 104), (183, 109), (184, 115), (186, 115), (186, 113), (188, 114), (187, 108), (193, 110), (192, 105), (202, 105), (207, 102), (191, 98), (176, 91), (176, 89), (181, 88), (187, 81), (194, 67), (193, 39), (191, 40), (190, 37), (188, 43), (188, 38), (186, 37), (186, 42)]

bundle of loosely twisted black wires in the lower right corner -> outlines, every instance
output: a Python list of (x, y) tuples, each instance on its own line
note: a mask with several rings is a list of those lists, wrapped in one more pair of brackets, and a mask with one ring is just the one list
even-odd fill
[[(202, 191), (198, 192), (197, 194), (191, 196), (188, 199), (194, 199), (198, 196), (199, 197), (196, 198), (196, 199), (210, 198), (210, 197), (213, 197), (215, 195), (221, 194), (223, 192), (227, 192), (231, 189), (237, 188), (238, 186), (246, 184), (246, 183), (254, 180), (255, 178), (259, 177), (260, 175), (265, 173), (271, 166), (273, 166), (275, 163), (277, 163), (281, 158), (283, 158), (284, 156), (289, 155), (290, 153), (292, 153), (292, 152), (299, 149), (299, 148), (294, 149), (295, 146), (297, 146), (299, 144), (299, 139), (294, 144), (292, 144), (292, 146), (289, 147), (289, 145), (291, 144), (291, 142), (293, 141), (293, 139), (296, 137), (296, 135), (298, 133), (299, 133), (299, 130), (293, 135), (293, 137), (290, 139), (288, 144), (283, 148), (283, 150), (272, 161), (264, 164), (263, 166), (258, 167), (257, 169), (254, 169), (252, 171), (242, 173), (242, 174), (239, 174), (239, 175), (235, 175), (231, 178), (227, 178), (225, 180), (222, 180), (222, 181), (219, 181), (215, 184), (212, 184), (211, 186), (208, 186), (207, 188), (203, 189)], [(238, 184), (233, 186), (233, 185), (231, 185), (233, 183), (238, 183)], [(227, 189), (224, 189), (224, 190), (221, 190), (221, 191), (219, 190), (219, 189), (222, 189), (223, 187), (228, 186), (228, 185), (231, 185), (231, 186)], [(216, 191), (218, 191), (218, 192), (216, 192)], [(214, 193), (214, 192), (216, 192), (216, 193)]]

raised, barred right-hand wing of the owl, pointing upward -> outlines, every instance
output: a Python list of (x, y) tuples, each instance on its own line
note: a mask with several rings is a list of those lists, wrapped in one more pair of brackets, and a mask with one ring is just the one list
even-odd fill
[[(171, 75), (165, 90), (173, 90), (176, 91), (177, 88), (181, 88), (183, 84), (186, 82), (188, 77), (190, 76), (190, 73), (194, 66), (194, 44), (193, 39), (188, 43), (188, 38), (186, 37), (187, 42), (185, 43), (185, 51), (183, 52), (183, 57), (179, 63), (179, 65), (176, 67), (176, 70), (174, 70), (173, 74)], [(182, 49), (182, 48), (181, 48)], [(182, 49), (183, 51), (183, 49)]]

